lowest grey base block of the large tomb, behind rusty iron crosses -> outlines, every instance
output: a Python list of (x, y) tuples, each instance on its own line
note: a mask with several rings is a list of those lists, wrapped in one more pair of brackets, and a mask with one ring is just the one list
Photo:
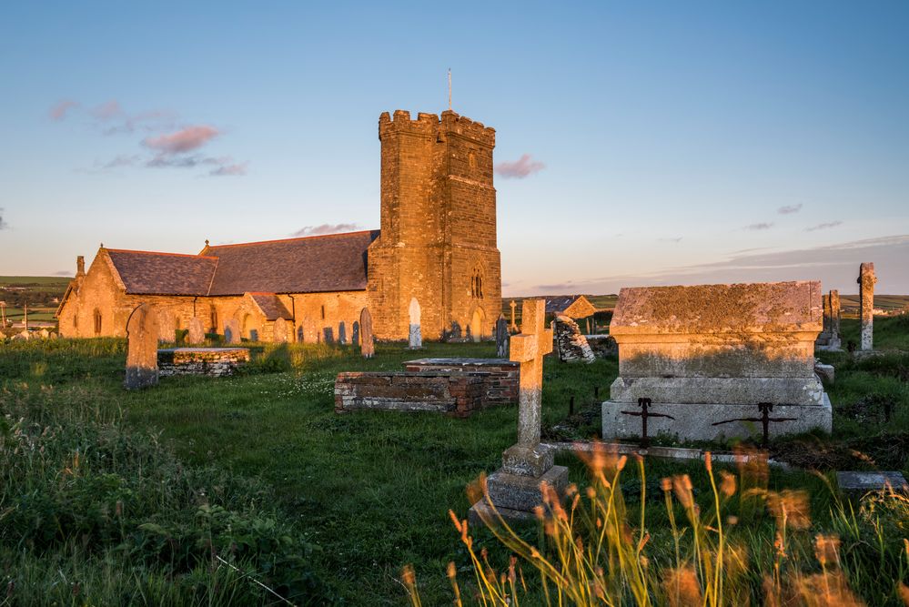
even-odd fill
[[(602, 404), (602, 436), (604, 440), (631, 439), (641, 436), (641, 418), (623, 415), (621, 411), (636, 411), (637, 406), (628, 402), (607, 400)], [(660, 434), (678, 436), (685, 440), (715, 440), (721, 437), (760, 437), (759, 421), (733, 421), (713, 426), (713, 422), (734, 418), (759, 418), (756, 403), (658, 403), (654, 402), (651, 413), (672, 415), (675, 420), (651, 417), (647, 420), (647, 433), (652, 437)], [(771, 422), (770, 436), (798, 434), (815, 428), (830, 432), (833, 428), (833, 409), (830, 399), (823, 394), (823, 404), (775, 405), (771, 418), (795, 418), (793, 421)]]

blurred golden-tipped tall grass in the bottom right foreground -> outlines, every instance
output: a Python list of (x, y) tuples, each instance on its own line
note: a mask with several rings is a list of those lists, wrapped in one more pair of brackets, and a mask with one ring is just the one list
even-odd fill
[[(805, 491), (768, 487), (765, 453), (739, 451), (738, 474), (714, 470), (708, 455), (709, 487), (702, 491), (688, 475), (662, 479), (669, 524), (655, 532), (669, 537), (654, 545), (643, 460), (636, 461), (641, 505), (631, 509), (621, 490), (626, 457), (602, 445), (579, 456), (590, 484), (582, 491), (571, 485), (564, 499), (541, 486), (535, 545), (496, 511), (484, 477), (469, 487), (471, 499), (490, 507), (481, 512), (483, 523), (510, 560), (497, 571), (490, 551), (475, 548), (468, 521), (449, 512), (473, 574), (461, 588), (449, 564), (454, 604), (909, 604), (909, 500), (902, 494), (869, 494), (858, 510), (834, 500), (830, 528), (820, 529)], [(768, 525), (771, 533), (760, 531)], [(411, 603), (420, 604), (412, 569), (404, 581)]]

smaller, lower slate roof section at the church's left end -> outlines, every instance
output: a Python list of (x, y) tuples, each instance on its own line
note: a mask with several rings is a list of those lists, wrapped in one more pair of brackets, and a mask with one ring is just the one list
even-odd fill
[(217, 258), (107, 248), (126, 287), (137, 295), (205, 295)]

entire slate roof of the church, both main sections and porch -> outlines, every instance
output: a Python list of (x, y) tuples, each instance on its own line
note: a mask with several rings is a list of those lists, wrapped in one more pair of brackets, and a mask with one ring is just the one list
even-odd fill
[[(207, 246), (199, 255), (104, 249), (126, 292), (218, 296), (359, 291), (367, 285), (367, 249), (379, 230)], [(286, 310), (257, 299), (275, 318)]]

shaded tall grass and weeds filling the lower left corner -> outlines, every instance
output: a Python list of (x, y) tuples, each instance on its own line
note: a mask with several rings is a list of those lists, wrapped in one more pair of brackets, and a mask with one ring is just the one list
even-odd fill
[(0, 394), (0, 605), (328, 601), (264, 485), (54, 390)]

